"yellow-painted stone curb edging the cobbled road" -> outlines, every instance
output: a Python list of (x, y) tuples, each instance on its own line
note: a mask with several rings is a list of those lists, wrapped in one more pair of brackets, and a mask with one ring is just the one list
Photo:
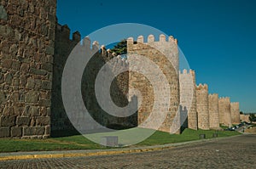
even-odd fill
[(92, 150), (67, 150), (67, 151), (35, 151), (35, 152), (19, 152), (19, 153), (1, 153), (0, 161), (15, 161), (15, 160), (32, 160), (32, 159), (48, 159), (48, 158), (65, 158), (65, 157), (84, 157), (84, 156), (99, 156), (99, 155), (120, 155), (128, 153), (149, 152), (162, 149), (172, 149), (173, 147), (186, 144), (199, 144), (201, 142), (211, 142), (219, 139), (227, 139), (239, 137), (241, 135), (224, 137), (224, 138), (209, 138), (201, 139), (177, 144), (163, 144), (140, 148), (125, 148), (125, 149), (92, 149)]

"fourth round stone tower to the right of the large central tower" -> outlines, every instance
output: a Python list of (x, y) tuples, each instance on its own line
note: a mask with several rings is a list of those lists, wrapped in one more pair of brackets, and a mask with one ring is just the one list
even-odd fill
[(230, 98), (226, 97), (218, 99), (218, 115), (220, 124), (228, 127), (232, 125), (230, 113)]

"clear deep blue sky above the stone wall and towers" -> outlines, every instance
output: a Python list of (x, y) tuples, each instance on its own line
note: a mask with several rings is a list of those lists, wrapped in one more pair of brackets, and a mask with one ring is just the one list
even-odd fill
[(140, 23), (177, 38), (209, 93), (256, 112), (256, 1), (59, 0), (57, 17), (82, 37), (107, 25)]

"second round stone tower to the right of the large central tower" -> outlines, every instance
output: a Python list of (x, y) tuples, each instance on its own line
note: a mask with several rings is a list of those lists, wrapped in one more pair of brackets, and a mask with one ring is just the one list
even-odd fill
[(198, 115), (198, 128), (208, 130), (210, 125), (207, 84), (200, 84), (196, 87), (196, 111)]

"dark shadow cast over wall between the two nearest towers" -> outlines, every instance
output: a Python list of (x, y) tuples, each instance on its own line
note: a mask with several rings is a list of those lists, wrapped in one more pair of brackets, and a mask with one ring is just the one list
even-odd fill
[[(69, 39), (70, 29), (67, 25), (57, 25), (55, 31), (55, 57), (52, 82), (52, 106), (51, 106), (51, 137), (63, 137), (79, 134), (73, 127), (67, 117), (61, 98), (61, 76), (67, 57), (80, 42), (79, 32), (73, 33), (73, 39)], [(90, 115), (95, 121), (104, 127), (111, 129), (127, 129), (137, 127), (137, 112), (127, 117), (115, 117), (102, 110), (96, 100), (95, 81), (98, 71), (112, 59), (113, 54), (102, 54), (102, 51), (96, 53), (86, 65), (82, 78), (81, 92), (84, 99), (84, 105), (89, 110)], [(110, 87), (110, 95), (113, 103), (119, 107), (124, 107), (129, 103), (126, 99), (129, 85), (129, 72), (123, 72), (116, 76)], [(85, 97), (86, 96), (86, 97)], [(133, 98), (137, 102), (137, 98)]]

